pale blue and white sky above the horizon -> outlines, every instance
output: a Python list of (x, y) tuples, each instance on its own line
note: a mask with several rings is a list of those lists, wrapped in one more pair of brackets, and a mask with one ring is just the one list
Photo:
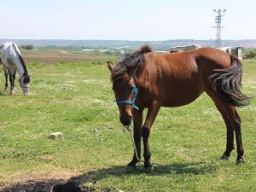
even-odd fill
[(226, 9), (222, 39), (256, 39), (255, 0), (1, 0), (0, 38), (207, 40), (213, 9)]

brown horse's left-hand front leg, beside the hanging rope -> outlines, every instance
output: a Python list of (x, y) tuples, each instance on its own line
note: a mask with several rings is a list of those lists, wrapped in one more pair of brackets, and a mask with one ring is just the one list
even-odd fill
[[(136, 168), (137, 162), (141, 159), (141, 141), (142, 141), (142, 126), (143, 126), (143, 109), (137, 111), (132, 110), (133, 117), (133, 138), (136, 145), (136, 150), (134, 150), (134, 155), (131, 162), (127, 165), (132, 168)], [(139, 159), (139, 160), (138, 160)]]

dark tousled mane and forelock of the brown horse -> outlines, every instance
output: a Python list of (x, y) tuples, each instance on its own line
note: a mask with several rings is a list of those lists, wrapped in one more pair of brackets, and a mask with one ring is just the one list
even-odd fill
[[(118, 79), (123, 79), (125, 73), (130, 75), (133, 75), (131, 74), (133, 72), (135, 72), (136, 75), (140, 74), (143, 70), (145, 59), (144, 54), (148, 52), (152, 52), (152, 49), (148, 44), (145, 44), (141, 47), (141, 49), (138, 49), (134, 53), (125, 55), (124, 59), (119, 61), (119, 63), (113, 68), (111, 73), (111, 80), (116, 81)], [(136, 70), (134, 71), (135, 68)]]

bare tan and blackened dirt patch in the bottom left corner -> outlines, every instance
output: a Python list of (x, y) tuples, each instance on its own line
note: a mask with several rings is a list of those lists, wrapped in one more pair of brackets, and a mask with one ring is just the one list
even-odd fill
[[(84, 179), (84, 174), (77, 175), (74, 172), (59, 171), (45, 175), (17, 176), (12, 181), (2, 182), (0, 192), (109, 192), (110, 189), (95, 188), (96, 181)], [(88, 184), (91, 183), (91, 184)], [(84, 185), (84, 183), (87, 183)], [(83, 185), (83, 188), (81, 186)]]

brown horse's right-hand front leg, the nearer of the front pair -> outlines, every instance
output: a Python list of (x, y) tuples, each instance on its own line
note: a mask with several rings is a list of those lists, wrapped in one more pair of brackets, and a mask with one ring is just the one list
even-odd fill
[(150, 162), (150, 150), (149, 150), (149, 143), (148, 143), (148, 137), (150, 135), (150, 129), (151, 126), (154, 123), (154, 119), (159, 112), (160, 105), (158, 102), (154, 101), (148, 108), (148, 114), (147, 118), (145, 120), (145, 123), (143, 125), (143, 145), (144, 145), (144, 168), (146, 169), (146, 172), (151, 172), (153, 170), (153, 164)]

